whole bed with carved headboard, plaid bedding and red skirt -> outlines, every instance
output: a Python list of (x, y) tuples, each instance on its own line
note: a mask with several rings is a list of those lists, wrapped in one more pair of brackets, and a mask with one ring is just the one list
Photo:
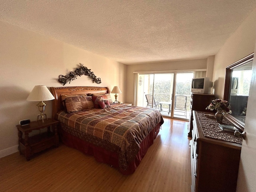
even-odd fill
[(113, 103), (107, 87), (51, 87), (50, 91), (60, 140), (122, 174), (136, 170), (164, 122), (156, 109)]

